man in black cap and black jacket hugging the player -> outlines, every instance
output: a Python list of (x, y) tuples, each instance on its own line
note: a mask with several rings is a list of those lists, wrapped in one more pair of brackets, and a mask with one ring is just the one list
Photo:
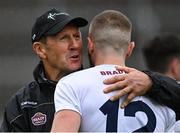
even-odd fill
[[(56, 9), (47, 11), (36, 20), (32, 29), (32, 43), (41, 61), (34, 70), (34, 81), (25, 85), (9, 100), (5, 108), (1, 131), (50, 131), (55, 112), (56, 83), (64, 75), (81, 69), (82, 38), (79, 27), (86, 25), (85, 19), (72, 18), (67, 13)], [(136, 80), (132, 83), (137, 84), (134, 88), (141, 91), (136, 93), (136, 90), (132, 89), (132, 93), (139, 95), (149, 90), (149, 94), (154, 94), (160, 90), (170, 100), (177, 98), (174, 95), (169, 96), (172, 90), (179, 88), (173, 81), (168, 81), (166, 77), (152, 72), (147, 73), (152, 80), (143, 72), (134, 72), (139, 78), (137, 78), (138, 82)], [(139, 82), (141, 84), (138, 84)]]

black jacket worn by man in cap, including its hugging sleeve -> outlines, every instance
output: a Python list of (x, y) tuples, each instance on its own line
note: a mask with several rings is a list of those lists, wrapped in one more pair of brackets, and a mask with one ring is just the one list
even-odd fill
[[(180, 85), (161, 74), (145, 71), (153, 81), (146, 94), (172, 108), (180, 118)], [(34, 71), (35, 81), (20, 89), (8, 102), (0, 131), (49, 132), (54, 117), (56, 82), (47, 80), (40, 63)]]

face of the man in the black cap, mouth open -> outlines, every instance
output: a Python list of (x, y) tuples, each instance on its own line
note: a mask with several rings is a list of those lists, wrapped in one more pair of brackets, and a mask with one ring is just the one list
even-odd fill
[(78, 27), (67, 25), (56, 36), (48, 36), (45, 44), (46, 62), (60, 73), (81, 68), (82, 37)]

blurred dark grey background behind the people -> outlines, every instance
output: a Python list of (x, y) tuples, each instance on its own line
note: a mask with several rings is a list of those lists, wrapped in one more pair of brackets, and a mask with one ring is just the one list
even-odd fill
[[(1, 0), (0, 1), (0, 117), (10, 96), (33, 79), (38, 58), (32, 51), (31, 27), (37, 16), (58, 8), (72, 16), (91, 20), (97, 13), (114, 9), (133, 23), (136, 48), (127, 65), (146, 69), (141, 54), (144, 43), (162, 32), (180, 34), (180, 0)], [(83, 28), (84, 66), (88, 67)], [(0, 123), (2, 119), (0, 118)]]

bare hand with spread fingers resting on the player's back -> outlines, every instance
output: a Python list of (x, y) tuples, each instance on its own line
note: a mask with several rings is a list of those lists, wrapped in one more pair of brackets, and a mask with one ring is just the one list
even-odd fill
[(152, 86), (152, 81), (145, 73), (129, 67), (116, 67), (117, 70), (124, 71), (126, 74), (116, 75), (106, 79), (105, 84), (110, 85), (104, 89), (104, 93), (119, 90), (110, 100), (114, 101), (127, 94), (121, 104), (121, 108), (128, 105), (135, 96), (145, 94)]

